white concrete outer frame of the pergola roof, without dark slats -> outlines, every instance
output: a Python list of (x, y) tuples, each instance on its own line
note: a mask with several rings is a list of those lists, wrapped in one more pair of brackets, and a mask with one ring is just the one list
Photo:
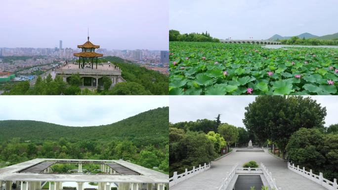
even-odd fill
[[(35, 174), (18, 173), (44, 161), (94, 161), (115, 162), (141, 175), (75, 175), (75, 174)], [(40, 181), (40, 182), (122, 182), (122, 183), (169, 183), (169, 175), (132, 164), (123, 160), (80, 160), (37, 158), (0, 169), (2, 181)]]

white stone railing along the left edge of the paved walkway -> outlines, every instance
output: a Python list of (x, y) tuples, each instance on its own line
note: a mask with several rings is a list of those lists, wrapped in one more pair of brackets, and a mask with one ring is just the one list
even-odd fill
[(210, 169), (210, 163), (207, 165), (206, 163), (204, 163), (204, 166), (199, 165), (198, 168), (195, 168), (195, 166), (193, 167), (192, 170), (188, 171), (188, 169), (185, 169), (185, 172), (182, 174), (178, 174), (177, 172), (173, 173), (173, 176), (171, 178), (169, 178), (169, 187), (172, 187), (186, 179), (189, 179), (201, 172), (204, 172), (206, 170)]

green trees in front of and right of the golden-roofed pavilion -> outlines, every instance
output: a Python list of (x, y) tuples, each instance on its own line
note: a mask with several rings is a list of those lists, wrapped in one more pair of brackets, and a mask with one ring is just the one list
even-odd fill
[(39, 76), (34, 86), (30, 86), (29, 81), (6, 85), (2, 87), (5, 90), (3, 95), (168, 95), (168, 76), (116, 56), (99, 59), (99, 62), (107, 61), (121, 68), (126, 82), (110, 88), (111, 80), (103, 76), (103, 87), (90, 91), (87, 88), (80, 89), (83, 79), (79, 74), (72, 74), (69, 83), (64, 82), (61, 76), (52, 79), (49, 74), (45, 79)]

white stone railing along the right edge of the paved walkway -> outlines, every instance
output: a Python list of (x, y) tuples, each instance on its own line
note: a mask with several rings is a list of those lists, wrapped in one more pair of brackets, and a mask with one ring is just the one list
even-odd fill
[(331, 181), (323, 178), (323, 173), (319, 173), (319, 176), (318, 176), (316, 174), (313, 174), (312, 170), (307, 172), (305, 170), (305, 167), (300, 169), (299, 165), (297, 165), (297, 167), (296, 167), (295, 164), (291, 165), (290, 162), (288, 162), (288, 168), (289, 168), (289, 170), (296, 172), (297, 174), (303, 176), (304, 178), (307, 178), (307, 179), (323, 186), (324, 188), (326, 188), (328, 190), (338, 190), (337, 179), (334, 179), (334, 182), (331, 182)]

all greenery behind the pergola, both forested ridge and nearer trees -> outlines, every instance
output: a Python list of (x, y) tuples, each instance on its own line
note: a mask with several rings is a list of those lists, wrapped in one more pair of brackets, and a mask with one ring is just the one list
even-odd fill
[(168, 171), (168, 121), (169, 107), (95, 127), (0, 121), (0, 167), (34, 158), (122, 158)]

